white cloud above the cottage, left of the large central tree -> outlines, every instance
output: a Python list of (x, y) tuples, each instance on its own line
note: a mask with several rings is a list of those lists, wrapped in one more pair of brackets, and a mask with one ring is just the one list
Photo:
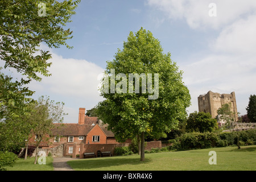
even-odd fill
[[(52, 53), (52, 52), (51, 52)], [(77, 123), (79, 107), (86, 110), (104, 100), (97, 90), (98, 75), (104, 69), (86, 60), (65, 59), (52, 53), (50, 77), (42, 77), (41, 82), (32, 81), (29, 88), (36, 96), (47, 95), (51, 100), (65, 102), (65, 123)]]

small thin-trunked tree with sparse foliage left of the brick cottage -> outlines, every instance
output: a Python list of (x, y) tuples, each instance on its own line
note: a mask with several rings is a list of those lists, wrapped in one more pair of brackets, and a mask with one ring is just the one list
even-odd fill
[(36, 135), (33, 144), (36, 146), (36, 157), (38, 157), (38, 147), (42, 142), (48, 143), (49, 136), (51, 135), (52, 129), (55, 127), (53, 123), (63, 123), (63, 116), (66, 115), (63, 112), (63, 102), (50, 101), (49, 97), (44, 98), (43, 96), (34, 104), (33, 111), (27, 118), (32, 125), (32, 133)]

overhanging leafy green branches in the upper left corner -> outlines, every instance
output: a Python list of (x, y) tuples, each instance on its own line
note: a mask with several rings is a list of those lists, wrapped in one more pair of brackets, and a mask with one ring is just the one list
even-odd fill
[[(40, 81), (50, 76), (48, 60), (51, 53), (40, 47), (68, 46), (72, 31), (65, 28), (80, 0), (5, 0), (0, 1), (0, 60), (4, 68), (14, 68), (22, 73), (13, 81), (1, 73), (0, 106), (3, 109), (24, 110), (20, 102), (27, 102), (33, 94), (27, 88), (31, 80)], [(7, 75), (9, 75), (7, 73)], [(10, 88), (10, 90), (8, 90)], [(15, 108), (14, 108), (15, 107)], [(16, 113), (13, 111), (13, 113)]]

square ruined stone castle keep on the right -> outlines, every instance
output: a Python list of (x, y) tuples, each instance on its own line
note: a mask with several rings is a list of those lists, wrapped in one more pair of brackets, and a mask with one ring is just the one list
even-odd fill
[(238, 121), (237, 102), (235, 93), (220, 94), (209, 91), (207, 94), (197, 97), (199, 112), (210, 113), (212, 118), (217, 116), (217, 110), (224, 104), (231, 103), (231, 109), (235, 113), (235, 121)]

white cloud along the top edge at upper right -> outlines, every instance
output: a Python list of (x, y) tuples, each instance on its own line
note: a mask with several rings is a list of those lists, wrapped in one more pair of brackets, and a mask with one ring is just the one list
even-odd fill
[[(216, 4), (216, 17), (210, 17), (210, 3)], [(256, 12), (255, 0), (148, 0), (147, 5), (163, 11), (169, 19), (185, 19), (191, 28), (214, 28)]]

